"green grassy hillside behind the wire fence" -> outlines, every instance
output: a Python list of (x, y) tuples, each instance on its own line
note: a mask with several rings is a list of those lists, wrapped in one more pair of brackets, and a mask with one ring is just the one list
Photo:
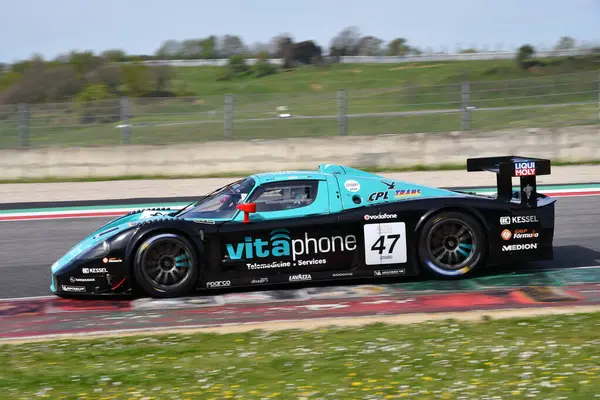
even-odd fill
[[(217, 81), (217, 67), (180, 67), (178, 81), (194, 97), (132, 99), (132, 142), (169, 144), (223, 140), (224, 94), (234, 95), (233, 139), (323, 137), (339, 134), (337, 89), (346, 89), (348, 114), (458, 110), (461, 83), (469, 80), (478, 108), (587, 102), (556, 108), (475, 111), (472, 130), (598, 124), (598, 63), (592, 58), (550, 60), (556, 65), (522, 71), (512, 60), (306, 66), (263, 78)], [(512, 80), (506, 80), (512, 79)], [(515, 80), (516, 79), (516, 80)], [(296, 118), (277, 119), (278, 106)], [(118, 100), (90, 105), (97, 117), (83, 123), (75, 104), (32, 105), (29, 145), (112, 146), (121, 143)], [(4, 117), (3, 117), (4, 116)], [(330, 116), (301, 119), (300, 116)], [(4, 118), (4, 119), (2, 119)], [(249, 121), (274, 118), (273, 120)], [(365, 116), (348, 120), (350, 135), (461, 130), (461, 114)], [(164, 124), (179, 124), (164, 126)], [(0, 148), (18, 148), (14, 108), (0, 109)]]

